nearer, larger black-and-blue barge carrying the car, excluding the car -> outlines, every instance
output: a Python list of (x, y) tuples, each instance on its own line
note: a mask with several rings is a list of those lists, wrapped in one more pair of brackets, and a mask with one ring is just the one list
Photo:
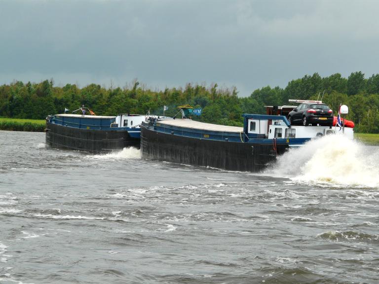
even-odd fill
[(291, 125), (287, 114), (294, 108), (296, 106), (267, 106), (270, 114), (243, 114), (243, 127), (203, 123), (185, 116), (150, 119), (141, 125), (141, 156), (179, 164), (259, 172), (289, 148), (311, 139), (336, 133), (353, 139), (350, 127)]

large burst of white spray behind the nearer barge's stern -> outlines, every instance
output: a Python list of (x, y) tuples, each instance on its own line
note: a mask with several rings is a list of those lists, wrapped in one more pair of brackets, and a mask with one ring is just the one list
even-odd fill
[(379, 148), (330, 135), (292, 148), (264, 174), (304, 182), (379, 186)]

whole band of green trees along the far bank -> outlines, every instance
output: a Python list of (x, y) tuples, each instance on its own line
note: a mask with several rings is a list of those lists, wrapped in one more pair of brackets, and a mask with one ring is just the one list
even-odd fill
[(337, 114), (340, 103), (349, 107), (347, 119), (353, 120), (357, 132), (379, 133), (379, 74), (365, 78), (353, 72), (348, 78), (336, 73), (321, 77), (318, 73), (292, 80), (285, 88), (270, 86), (255, 90), (249, 97), (240, 98), (235, 87), (220, 88), (217, 84), (187, 84), (183, 88), (152, 90), (134, 80), (120, 88), (90, 84), (83, 88), (75, 84), (54, 86), (53, 80), (40, 83), (15, 81), (0, 86), (0, 116), (9, 118), (44, 119), (48, 114), (71, 111), (81, 105), (98, 115), (119, 113), (173, 116), (177, 106), (190, 104), (202, 107), (203, 113), (193, 119), (226, 125), (242, 125), (243, 113), (265, 113), (265, 106), (293, 105), (288, 99), (317, 98)]

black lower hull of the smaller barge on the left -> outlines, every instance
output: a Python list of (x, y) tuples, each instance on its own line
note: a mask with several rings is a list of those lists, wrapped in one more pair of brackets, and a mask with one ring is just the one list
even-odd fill
[(127, 131), (90, 130), (46, 123), (46, 145), (58, 149), (109, 153), (124, 147), (140, 147), (140, 139)]

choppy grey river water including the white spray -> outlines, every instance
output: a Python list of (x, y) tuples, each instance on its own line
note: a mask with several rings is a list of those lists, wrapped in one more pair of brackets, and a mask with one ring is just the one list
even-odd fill
[(0, 283), (379, 283), (379, 148), (264, 173), (45, 148), (0, 131)]

